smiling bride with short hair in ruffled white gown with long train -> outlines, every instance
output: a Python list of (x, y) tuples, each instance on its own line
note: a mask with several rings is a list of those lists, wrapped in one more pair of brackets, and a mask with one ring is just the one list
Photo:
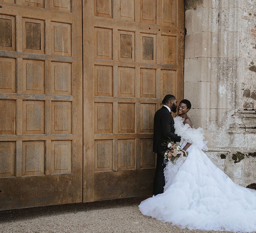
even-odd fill
[(187, 157), (164, 169), (164, 192), (142, 201), (142, 214), (181, 228), (256, 231), (256, 191), (235, 184), (202, 150), (207, 150), (202, 129), (194, 129), (187, 116), (191, 108), (182, 100), (174, 118), (175, 133)]

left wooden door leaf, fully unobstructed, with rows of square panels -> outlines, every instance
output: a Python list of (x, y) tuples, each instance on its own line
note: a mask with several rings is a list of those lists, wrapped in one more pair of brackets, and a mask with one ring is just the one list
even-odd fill
[(0, 5), (0, 210), (81, 202), (81, 1)]

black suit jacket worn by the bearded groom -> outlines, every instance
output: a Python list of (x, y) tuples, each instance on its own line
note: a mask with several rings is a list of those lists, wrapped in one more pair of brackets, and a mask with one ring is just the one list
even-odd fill
[(153, 152), (162, 153), (164, 140), (171, 138), (174, 142), (180, 137), (174, 133), (174, 120), (166, 107), (157, 110), (154, 116)]

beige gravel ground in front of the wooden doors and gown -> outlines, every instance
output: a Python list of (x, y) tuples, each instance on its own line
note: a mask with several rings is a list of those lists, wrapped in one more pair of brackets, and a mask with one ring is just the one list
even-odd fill
[(0, 232), (216, 232), (180, 229), (146, 217), (138, 208), (145, 198), (0, 211)]

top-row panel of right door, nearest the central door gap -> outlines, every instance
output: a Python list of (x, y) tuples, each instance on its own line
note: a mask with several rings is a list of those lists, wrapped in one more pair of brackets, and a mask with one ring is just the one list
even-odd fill
[(112, 18), (112, 0), (94, 0), (94, 15)]

